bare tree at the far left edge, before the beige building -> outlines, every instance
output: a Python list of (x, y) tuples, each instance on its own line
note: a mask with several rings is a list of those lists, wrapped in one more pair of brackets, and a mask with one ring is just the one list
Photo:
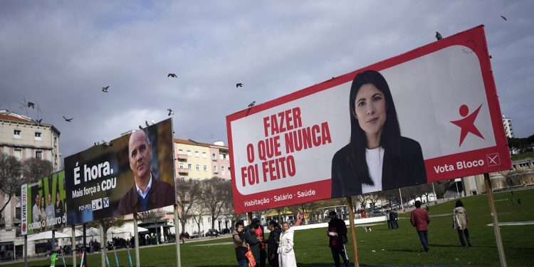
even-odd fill
[(11, 198), (21, 191), (21, 184), (25, 180), (21, 179), (22, 164), (14, 156), (9, 156), (0, 153), (0, 193), (7, 196), (7, 201), (3, 206), (0, 206), (0, 221), (2, 220), (2, 212), (11, 201)]

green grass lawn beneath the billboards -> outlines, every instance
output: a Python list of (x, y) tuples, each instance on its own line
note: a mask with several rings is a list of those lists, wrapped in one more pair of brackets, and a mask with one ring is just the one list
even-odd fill
[[(499, 222), (534, 221), (534, 189), (501, 192), (494, 194)], [(523, 205), (511, 205), (510, 198)], [(488, 198), (486, 195), (463, 198), (468, 211), (469, 234), (473, 246), (462, 248), (456, 230), (452, 229), (451, 212), (454, 201), (431, 206), (429, 225), (429, 248), (426, 253), (414, 227), (409, 223), (409, 214), (399, 214), (399, 230), (389, 230), (387, 225), (372, 226), (372, 232), (357, 227), (357, 246), (361, 266), (500, 266)], [(348, 235), (350, 239), (350, 234)], [(533, 266), (534, 225), (501, 226), (501, 237), (508, 266)], [(234, 246), (230, 237), (180, 244), (182, 266), (237, 266)], [(206, 246), (199, 246), (206, 245)], [(347, 248), (350, 258), (352, 248)], [(134, 266), (135, 256), (132, 253)], [(328, 248), (326, 229), (295, 231), (295, 253), (299, 266), (333, 266)], [(117, 251), (120, 266), (130, 266), (126, 251)], [(175, 246), (140, 248), (141, 266), (176, 266)], [(110, 266), (115, 265), (115, 256), (108, 253)], [(66, 258), (67, 265), (70, 258)], [(79, 263), (79, 259), (78, 259)], [(90, 266), (100, 266), (100, 254), (88, 257)], [(23, 266), (23, 263), (2, 266)], [(49, 261), (31, 261), (28, 266), (50, 266)], [(56, 261), (63, 266), (63, 261)], [(71, 266), (71, 265), (70, 265)]]

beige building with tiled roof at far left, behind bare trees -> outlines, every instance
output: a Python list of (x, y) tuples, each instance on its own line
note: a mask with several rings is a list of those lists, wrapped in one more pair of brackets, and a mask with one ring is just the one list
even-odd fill
[[(53, 172), (60, 166), (59, 136), (60, 132), (53, 125), (38, 123), (31, 117), (19, 115), (7, 110), (0, 110), (0, 153), (14, 156), (23, 161), (38, 158), (52, 162)], [(0, 206), (7, 203), (2, 211), (0, 226), (0, 261), (11, 261), (21, 257), (23, 238), (20, 229), (21, 203), (19, 194), (9, 199), (0, 192)], [(8, 203), (9, 201), (9, 203)], [(28, 242), (28, 255), (33, 255), (35, 244)]]

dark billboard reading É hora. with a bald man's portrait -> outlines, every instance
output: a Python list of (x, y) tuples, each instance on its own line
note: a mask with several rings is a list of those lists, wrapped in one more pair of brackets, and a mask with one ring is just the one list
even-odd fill
[(174, 205), (172, 120), (65, 159), (68, 224)]

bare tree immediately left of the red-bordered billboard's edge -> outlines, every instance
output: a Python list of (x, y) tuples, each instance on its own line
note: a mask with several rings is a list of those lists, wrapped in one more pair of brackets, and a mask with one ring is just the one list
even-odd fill
[(211, 229), (215, 229), (215, 221), (221, 216), (224, 207), (232, 194), (231, 182), (213, 177), (202, 181), (202, 204), (211, 215)]

